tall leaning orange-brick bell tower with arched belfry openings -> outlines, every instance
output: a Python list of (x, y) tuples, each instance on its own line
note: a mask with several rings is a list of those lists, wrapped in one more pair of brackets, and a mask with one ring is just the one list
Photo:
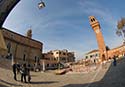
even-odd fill
[(105, 42), (102, 36), (100, 24), (94, 16), (89, 17), (89, 22), (90, 22), (92, 29), (94, 30), (96, 34), (96, 40), (98, 43), (98, 48), (99, 48), (99, 53), (100, 53), (99, 54), (100, 60), (104, 61), (107, 59), (107, 52), (106, 52), (106, 46), (105, 46)]

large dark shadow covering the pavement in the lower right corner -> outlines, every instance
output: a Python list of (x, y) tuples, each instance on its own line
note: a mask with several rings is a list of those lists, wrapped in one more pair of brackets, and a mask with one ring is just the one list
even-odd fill
[(111, 64), (100, 81), (86, 84), (68, 84), (63, 87), (125, 87), (125, 59), (119, 61), (117, 66)]

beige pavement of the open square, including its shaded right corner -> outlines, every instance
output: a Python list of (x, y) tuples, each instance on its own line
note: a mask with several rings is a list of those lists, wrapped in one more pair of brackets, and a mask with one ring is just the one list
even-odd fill
[(125, 87), (125, 60), (116, 67), (100, 66), (96, 71), (89, 73), (69, 73), (55, 75), (53, 72), (31, 72), (31, 83), (21, 83), (13, 80), (11, 70), (0, 68), (0, 87)]

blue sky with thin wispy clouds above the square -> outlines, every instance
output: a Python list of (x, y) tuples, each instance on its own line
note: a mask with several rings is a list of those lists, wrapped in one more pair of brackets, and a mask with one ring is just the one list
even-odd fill
[(63, 50), (75, 52), (76, 59), (98, 49), (95, 33), (88, 17), (93, 15), (101, 25), (109, 48), (122, 44), (116, 35), (117, 21), (125, 17), (125, 0), (21, 0), (7, 17), (3, 27), (25, 35), (32, 28), (33, 39), (43, 43), (43, 52)]

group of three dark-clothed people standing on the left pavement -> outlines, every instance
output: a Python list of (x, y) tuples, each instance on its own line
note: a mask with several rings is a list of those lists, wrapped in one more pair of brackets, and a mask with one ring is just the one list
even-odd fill
[(14, 74), (14, 80), (17, 81), (17, 74), (21, 74), (21, 82), (27, 83), (26, 77), (28, 77), (28, 82), (30, 83), (31, 75), (30, 75), (30, 65), (20, 65), (20, 64), (13, 64), (13, 74)]

